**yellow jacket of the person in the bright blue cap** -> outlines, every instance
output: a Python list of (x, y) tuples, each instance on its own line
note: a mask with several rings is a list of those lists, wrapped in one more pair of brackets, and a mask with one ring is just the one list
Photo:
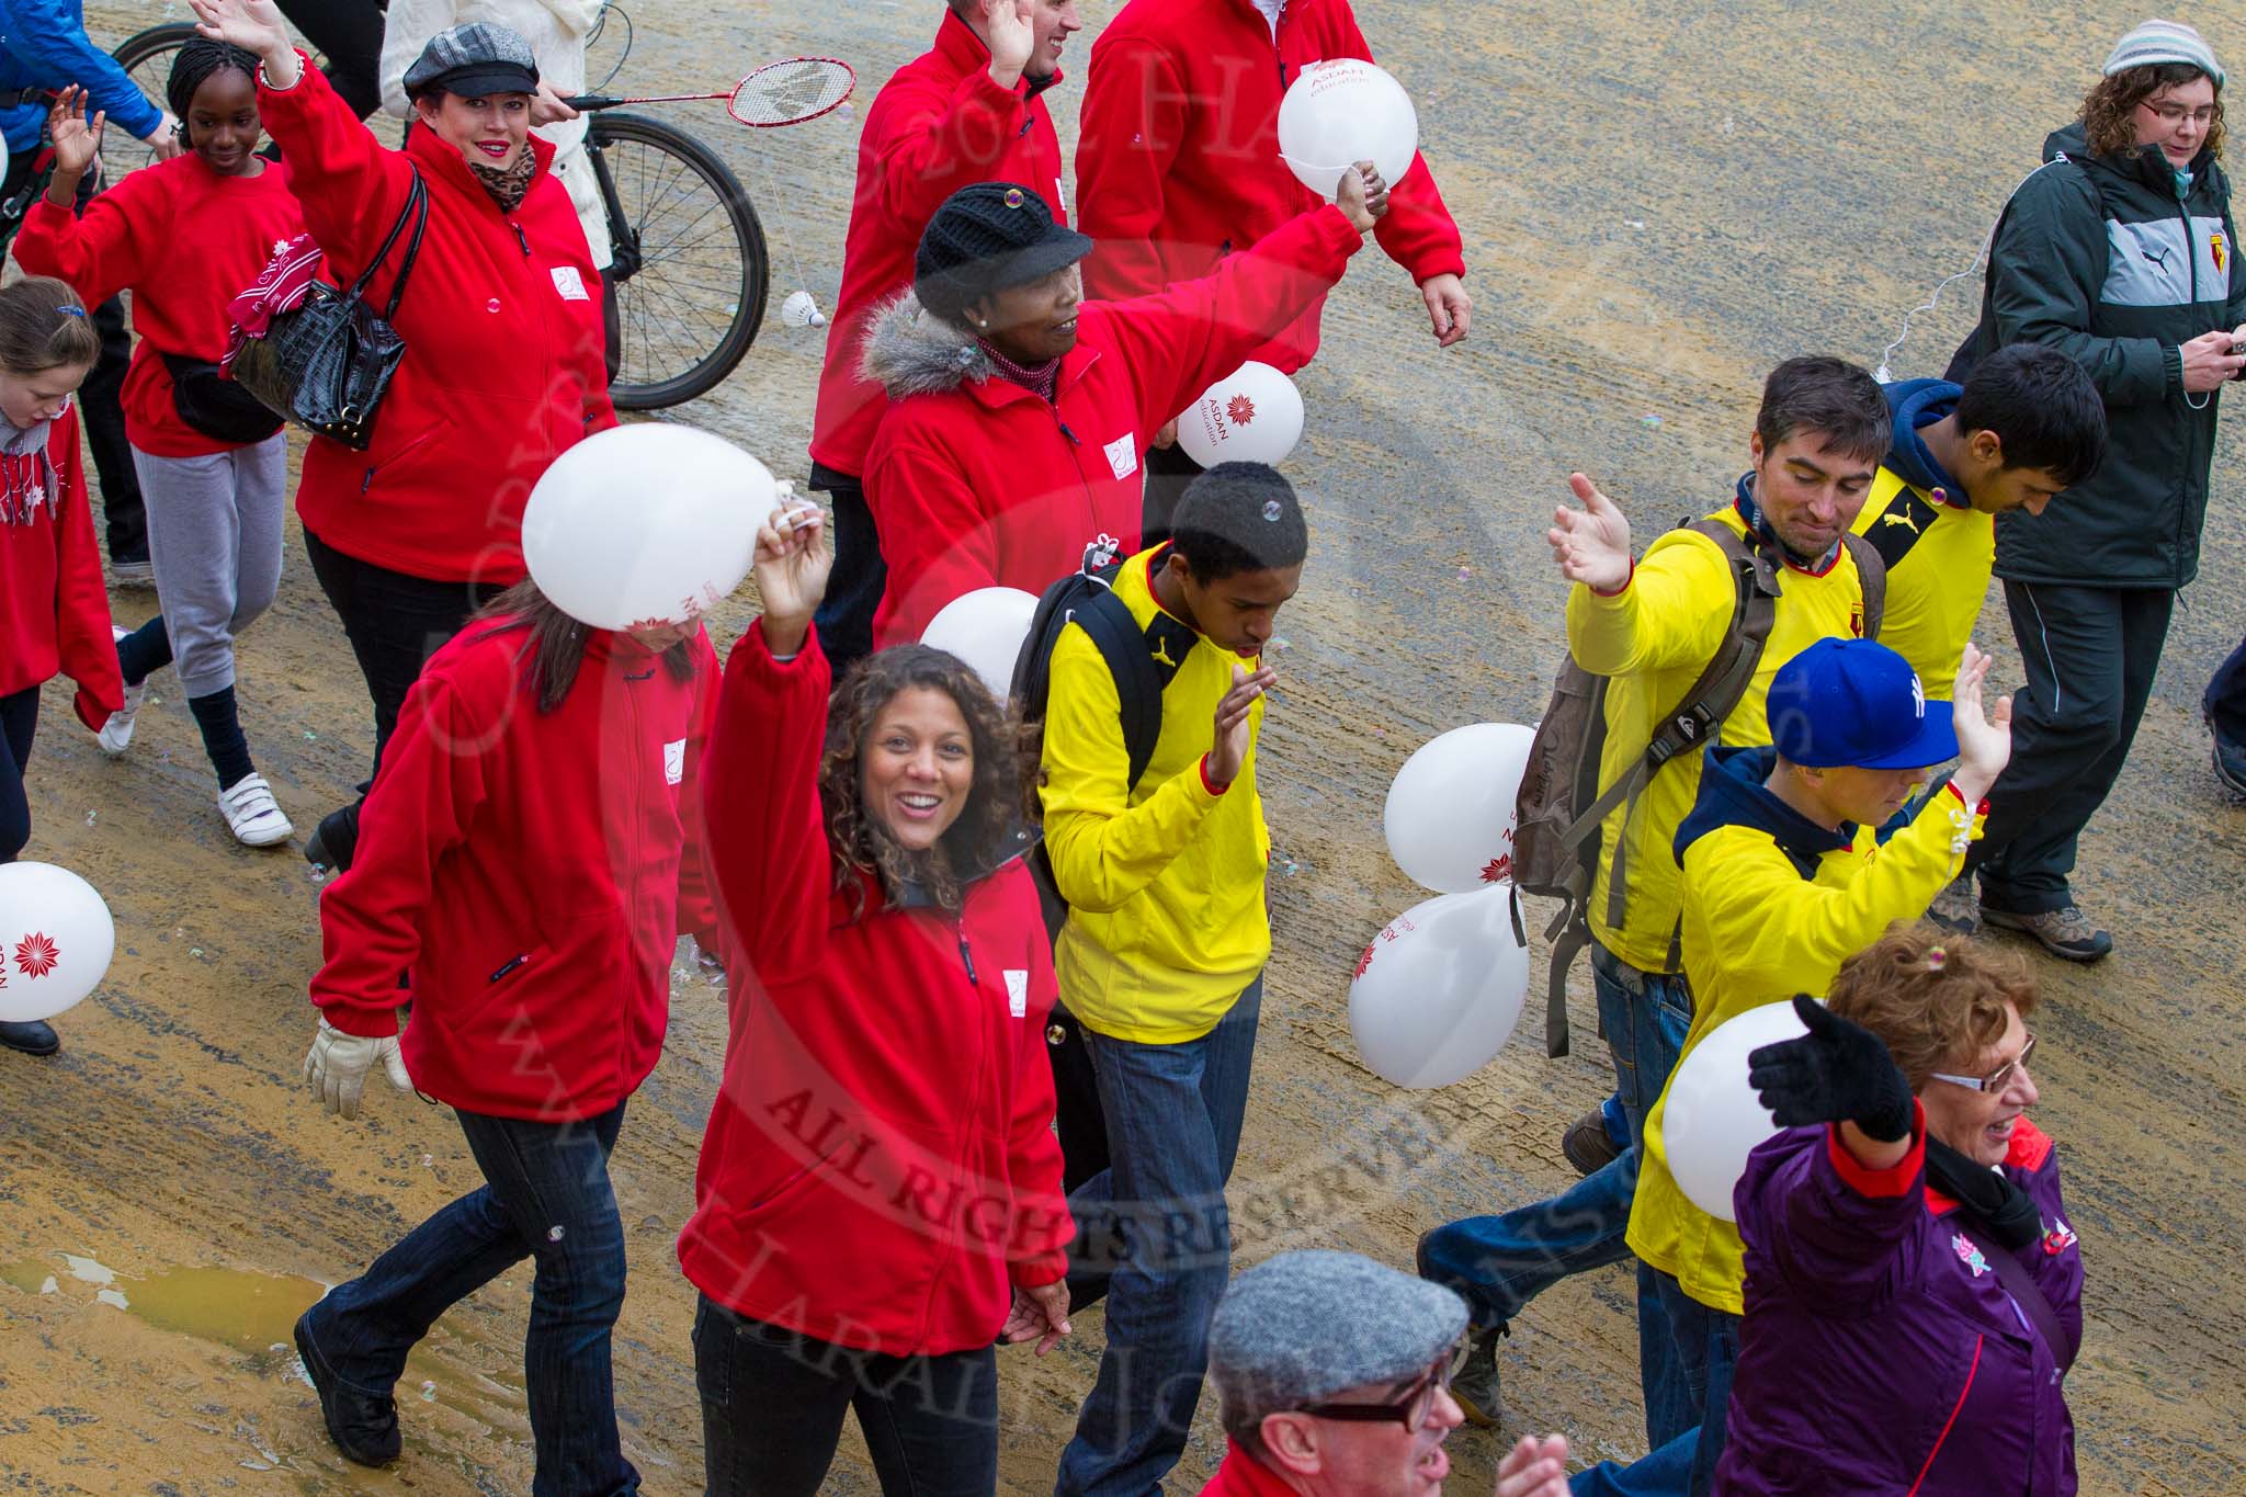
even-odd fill
[[(1718, 752), (1700, 810), (1684, 828), (1684, 974), (1693, 1019), (1678, 1068), (1725, 1019), (1797, 992), (1824, 997), (1839, 965), (1918, 920), (1965, 862), (1981, 817), (1941, 788), (1884, 844), (1871, 826), (1819, 833), (1761, 790), (1777, 750)], [(1711, 801), (1727, 801), (1711, 808)], [(1736, 817), (1736, 819), (1734, 819)], [(1700, 824), (1711, 828), (1700, 833)], [(1804, 875), (1795, 857), (1815, 857)], [(1669, 1073), (1676, 1080), (1676, 1071)], [(1646, 1147), (1631, 1203), (1631, 1250), (1678, 1279), (1684, 1293), (1743, 1315), (1745, 1248), (1738, 1228), (1709, 1216), (1669, 1174), (1662, 1120), (1669, 1089), (1646, 1113)]]

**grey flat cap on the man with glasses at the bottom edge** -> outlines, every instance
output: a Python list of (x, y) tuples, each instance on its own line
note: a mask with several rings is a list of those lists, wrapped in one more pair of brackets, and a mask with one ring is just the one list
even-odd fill
[(1354, 1252), (1280, 1252), (1233, 1279), (1208, 1326), (1226, 1427), (1348, 1387), (1402, 1383), (1467, 1329), (1467, 1302)]

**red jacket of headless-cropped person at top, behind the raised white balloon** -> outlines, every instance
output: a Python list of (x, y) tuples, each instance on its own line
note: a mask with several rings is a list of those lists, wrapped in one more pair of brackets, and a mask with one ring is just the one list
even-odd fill
[[(1116, 11), (1092, 45), (1076, 148), (1078, 227), (1098, 240), (1085, 294), (1119, 301), (1206, 276), (1314, 206), (1318, 195), (1278, 157), (1278, 101), (1309, 63), (1350, 56), (1372, 61), (1350, 0), (1287, 0), (1278, 40), (1251, 0), (1130, 0)], [(1462, 276), (1458, 224), (1426, 162), (1413, 157), (1388, 186), (1375, 229), (1388, 258), (1415, 283)], [(1253, 357), (1289, 375), (1309, 364), (1323, 305), (1312, 301)]]

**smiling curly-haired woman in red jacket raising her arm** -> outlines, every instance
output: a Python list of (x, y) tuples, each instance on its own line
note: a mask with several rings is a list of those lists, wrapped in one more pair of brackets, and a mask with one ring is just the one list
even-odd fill
[(820, 543), (818, 512), (759, 532), (703, 777), (734, 963), (678, 1237), (707, 1490), (818, 1493), (856, 1407), (885, 1493), (988, 1497), (993, 1340), (1069, 1331), (1020, 734), (916, 644), (829, 714)]

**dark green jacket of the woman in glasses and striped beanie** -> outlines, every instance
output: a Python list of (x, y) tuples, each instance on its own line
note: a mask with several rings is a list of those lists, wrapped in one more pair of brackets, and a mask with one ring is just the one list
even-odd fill
[(2185, 399), (2179, 346), (2246, 321), (2230, 182), (2201, 150), (2179, 195), (2158, 150), (2093, 157), (2080, 123), (2044, 141), (2044, 162), (1997, 224), (1981, 325), (1950, 379), (2006, 343), (2051, 343), (2105, 395), (2109, 442), (2042, 516), (1997, 521), (1997, 575), (2181, 588), (2199, 572), (2221, 395)]

